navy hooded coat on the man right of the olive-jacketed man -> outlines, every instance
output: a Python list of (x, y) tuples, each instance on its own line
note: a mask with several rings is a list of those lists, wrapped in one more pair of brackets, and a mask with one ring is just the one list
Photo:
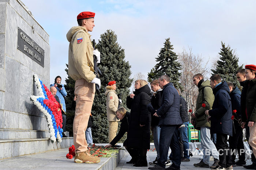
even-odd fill
[(215, 99), (212, 110), (209, 111), (209, 115), (211, 116), (211, 133), (222, 133), (232, 136), (232, 106), (229, 96), (229, 86), (224, 81), (212, 91)]

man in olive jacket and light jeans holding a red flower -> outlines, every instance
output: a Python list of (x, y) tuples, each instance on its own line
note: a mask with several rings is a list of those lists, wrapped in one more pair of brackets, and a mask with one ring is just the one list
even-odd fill
[(207, 116), (205, 115), (206, 110), (210, 110), (214, 101), (214, 95), (212, 93), (212, 88), (210, 86), (210, 81), (204, 81), (204, 77), (202, 74), (195, 74), (193, 76), (193, 84), (198, 87), (198, 96), (196, 100), (196, 111), (191, 113), (191, 123), (197, 130), (200, 130), (200, 139), (201, 146), (203, 149), (203, 159), (199, 163), (195, 163), (195, 167), (210, 167), (210, 154), (206, 154), (206, 151), (210, 151), (212, 156), (214, 157), (214, 163), (211, 168), (215, 168), (218, 166), (219, 162), (219, 154), (216, 151), (216, 147), (211, 140), (210, 127), (211, 124), (207, 120)]

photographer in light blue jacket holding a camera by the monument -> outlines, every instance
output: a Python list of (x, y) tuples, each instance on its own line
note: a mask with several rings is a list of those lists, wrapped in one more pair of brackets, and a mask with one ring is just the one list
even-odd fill
[[(56, 87), (57, 89), (57, 93), (56, 93), (56, 96), (59, 97), (60, 99), (60, 105), (62, 105), (62, 108), (63, 110), (66, 112), (66, 104), (65, 104), (65, 100), (64, 100), (64, 97), (67, 96), (67, 92), (64, 88), (64, 85), (61, 84), (61, 77), (60, 76), (57, 76), (54, 80), (54, 84), (51, 84), (50, 87)], [(63, 127), (63, 132), (66, 131), (66, 122), (63, 121), (62, 123)], [(63, 133), (63, 137), (67, 137), (64, 133)]]

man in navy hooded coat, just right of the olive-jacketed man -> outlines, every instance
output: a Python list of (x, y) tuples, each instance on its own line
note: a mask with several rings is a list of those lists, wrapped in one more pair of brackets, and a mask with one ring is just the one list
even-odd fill
[(232, 158), (227, 144), (227, 135), (232, 136), (232, 107), (227, 82), (221, 82), (221, 76), (214, 74), (210, 85), (215, 96), (212, 110), (205, 111), (211, 120), (211, 133), (216, 134), (216, 148), (219, 151), (219, 165), (215, 169), (233, 169)]

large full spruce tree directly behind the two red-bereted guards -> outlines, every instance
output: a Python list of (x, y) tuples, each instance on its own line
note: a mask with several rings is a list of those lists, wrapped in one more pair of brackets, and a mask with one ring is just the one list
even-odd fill
[[(131, 66), (125, 61), (124, 49), (117, 43), (117, 35), (112, 30), (101, 34), (96, 48), (101, 52), (101, 63), (98, 64), (102, 72), (100, 94), (95, 94), (92, 108), (92, 134), (95, 143), (108, 143), (108, 120), (106, 115), (106, 96), (104, 92), (109, 81), (116, 81), (116, 92), (121, 95), (126, 107), (126, 97), (132, 83)], [(120, 97), (119, 97), (120, 98)], [(122, 140), (121, 140), (122, 141)]]

